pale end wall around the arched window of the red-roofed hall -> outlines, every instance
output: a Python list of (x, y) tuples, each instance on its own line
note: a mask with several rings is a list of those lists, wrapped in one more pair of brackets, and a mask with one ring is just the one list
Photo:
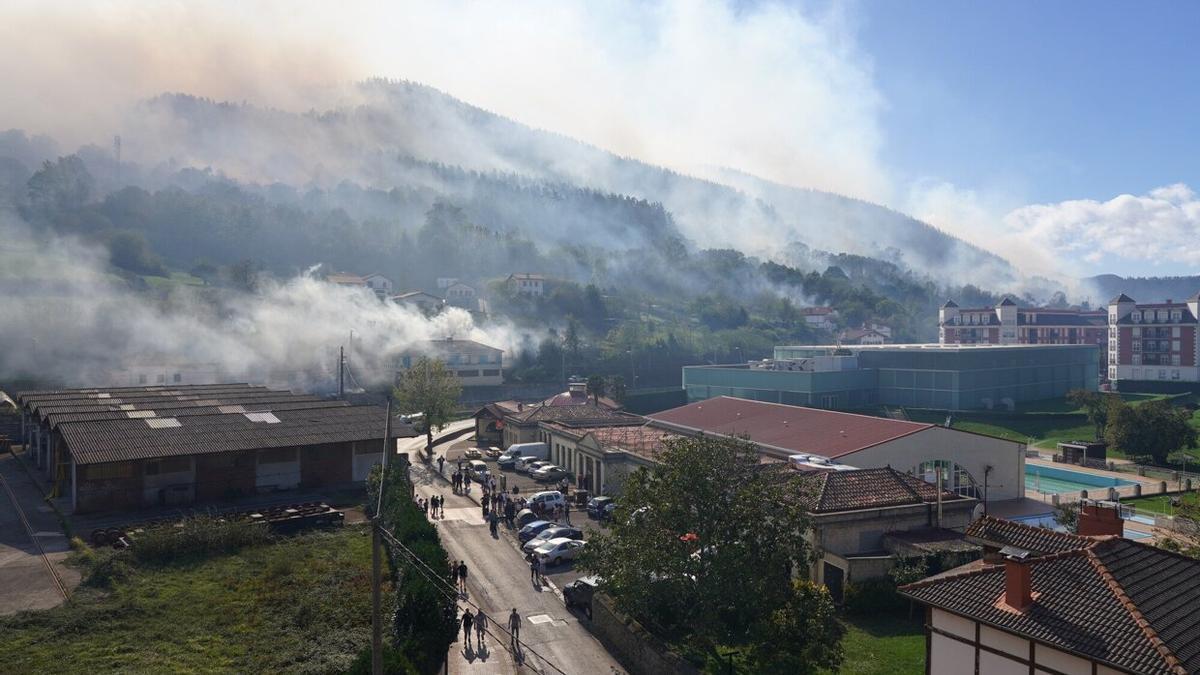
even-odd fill
[(980, 434), (968, 434), (934, 426), (887, 443), (838, 458), (859, 468), (890, 466), (907, 472), (923, 461), (947, 459), (966, 470), (979, 486), (983, 498), (984, 468), (988, 477), (988, 501), (1016, 500), (1025, 496), (1025, 443)]

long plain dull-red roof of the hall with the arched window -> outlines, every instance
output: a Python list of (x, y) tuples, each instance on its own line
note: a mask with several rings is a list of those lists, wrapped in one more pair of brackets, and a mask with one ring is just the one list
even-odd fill
[(746, 436), (755, 443), (788, 454), (814, 453), (830, 459), (934, 428), (932, 424), (731, 396), (689, 404), (649, 418), (685, 430)]

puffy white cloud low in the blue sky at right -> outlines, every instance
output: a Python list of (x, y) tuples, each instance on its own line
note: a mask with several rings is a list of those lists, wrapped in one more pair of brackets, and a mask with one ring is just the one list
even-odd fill
[[(1072, 199), (1033, 204), (1004, 216), (1004, 226), (1066, 259), (1200, 264), (1200, 198), (1183, 184), (1106, 202)], [(1097, 270), (1108, 271), (1108, 270)]]

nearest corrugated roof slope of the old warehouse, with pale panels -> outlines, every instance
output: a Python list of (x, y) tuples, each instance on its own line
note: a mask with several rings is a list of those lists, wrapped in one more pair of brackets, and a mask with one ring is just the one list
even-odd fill
[[(378, 406), (344, 406), (276, 411), (277, 424), (234, 413), (176, 417), (179, 426), (168, 429), (151, 429), (152, 419), (108, 419), (60, 424), (59, 430), (74, 461), (90, 465), (378, 440), (384, 414)], [(396, 417), (392, 436), (416, 432)]]

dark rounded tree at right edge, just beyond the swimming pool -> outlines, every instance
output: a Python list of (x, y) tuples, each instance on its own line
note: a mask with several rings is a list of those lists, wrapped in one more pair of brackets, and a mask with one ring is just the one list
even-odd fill
[(1110, 401), (1104, 438), (1109, 446), (1129, 456), (1150, 458), (1154, 464), (1164, 464), (1175, 450), (1196, 444), (1196, 430), (1190, 420), (1192, 416), (1186, 410), (1166, 401), (1130, 406), (1116, 399)]

